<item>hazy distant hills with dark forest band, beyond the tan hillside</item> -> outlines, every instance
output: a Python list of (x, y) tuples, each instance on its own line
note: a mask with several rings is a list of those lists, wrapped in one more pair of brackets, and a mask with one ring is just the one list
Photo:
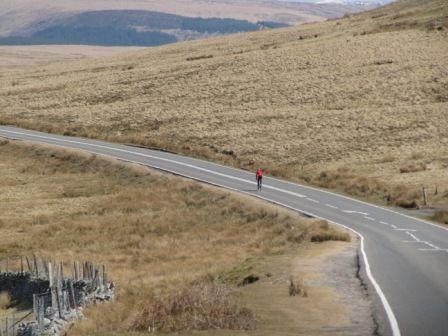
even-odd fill
[(0, 44), (160, 45), (323, 21), (375, 6), (293, 0), (2, 0)]

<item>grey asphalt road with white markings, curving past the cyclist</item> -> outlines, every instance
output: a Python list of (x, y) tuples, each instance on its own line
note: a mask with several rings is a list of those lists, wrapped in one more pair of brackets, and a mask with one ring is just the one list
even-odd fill
[(175, 154), (0, 126), (0, 136), (84, 150), (233, 189), (355, 231), (381, 335), (448, 335), (448, 229), (299, 184)]

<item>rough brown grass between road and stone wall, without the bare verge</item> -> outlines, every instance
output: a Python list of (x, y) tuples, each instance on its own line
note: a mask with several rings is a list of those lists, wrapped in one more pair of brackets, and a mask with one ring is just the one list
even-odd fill
[(0, 142), (0, 156), (0, 258), (91, 260), (118, 284), (117, 301), (86, 309), (72, 335), (253, 329), (221, 274), (315, 235), (349, 240), (328, 223), (138, 165), (13, 141)]

